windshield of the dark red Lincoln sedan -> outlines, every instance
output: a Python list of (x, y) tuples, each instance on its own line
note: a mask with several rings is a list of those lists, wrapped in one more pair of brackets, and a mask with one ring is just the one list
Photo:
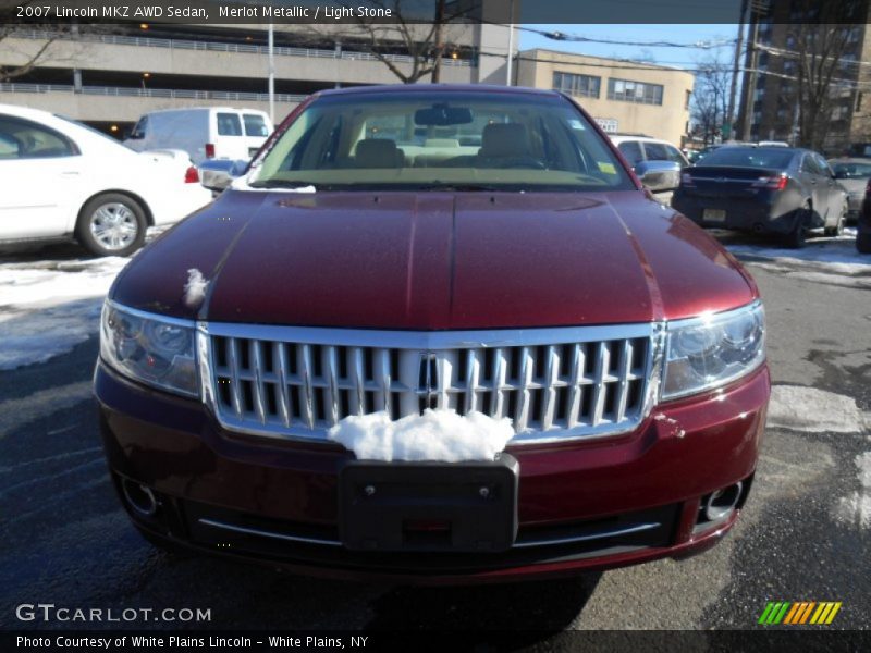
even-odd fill
[(571, 101), (413, 91), (317, 99), (250, 185), (318, 189), (634, 189)]

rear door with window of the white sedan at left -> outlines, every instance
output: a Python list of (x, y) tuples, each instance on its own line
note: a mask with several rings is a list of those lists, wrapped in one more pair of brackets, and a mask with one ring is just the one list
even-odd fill
[(82, 173), (76, 145), (34, 121), (0, 113), (0, 239), (61, 236)]

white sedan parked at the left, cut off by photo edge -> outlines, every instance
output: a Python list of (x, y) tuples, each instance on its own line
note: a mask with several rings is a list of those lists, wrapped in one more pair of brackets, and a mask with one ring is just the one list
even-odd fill
[(148, 226), (208, 204), (184, 152), (136, 153), (46, 111), (0, 104), (0, 246), (75, 239), (97, 256), (127, 256)]

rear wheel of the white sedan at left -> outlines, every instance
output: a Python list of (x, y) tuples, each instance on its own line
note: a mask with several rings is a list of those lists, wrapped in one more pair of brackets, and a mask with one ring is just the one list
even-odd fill
[(95, 256), (130, 256), (145, 243), (147, 226), (138, 201), (121, 193), (105, 193), (82, 207), (75, 237)]

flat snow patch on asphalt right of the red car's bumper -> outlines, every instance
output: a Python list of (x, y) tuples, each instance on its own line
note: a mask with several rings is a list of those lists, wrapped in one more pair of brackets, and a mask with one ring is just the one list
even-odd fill
[(859, 433), (869, 417), (851, 397), (801, 385), (771, 389), (768, 426), (810, 433)]

